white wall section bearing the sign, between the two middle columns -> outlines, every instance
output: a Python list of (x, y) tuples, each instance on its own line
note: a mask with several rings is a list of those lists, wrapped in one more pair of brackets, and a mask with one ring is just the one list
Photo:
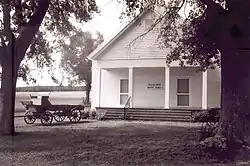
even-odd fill
[[(162, 84), (162, 89), (147, 89), (148, 84)], [(134, 69), (134, 107), (164, 108), (165, 68)]]

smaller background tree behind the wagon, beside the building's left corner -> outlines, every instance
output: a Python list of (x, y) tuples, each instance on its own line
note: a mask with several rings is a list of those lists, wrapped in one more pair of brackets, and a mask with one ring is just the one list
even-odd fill
[(103, 35), (97, 32), (94, 38), (90, 32), (78, 31), (70, 36), (68, 43), (62, 47), (61, 67), (71, 77), (71, 84), (84, 83), (86, 86), (86, 103), (89, 104), (91, 90), (91, 64), (87, 56), (103, 42)]

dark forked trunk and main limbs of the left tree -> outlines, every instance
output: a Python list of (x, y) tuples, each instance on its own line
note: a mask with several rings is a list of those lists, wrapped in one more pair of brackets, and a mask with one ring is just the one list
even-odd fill
[(15, 38), (10, 30), (10, 11), (8, 7), (4, 12), (4, 29), (7, 32), (9, 44), (4, 46), (1, 55), (2, 79), (1, 79), (1, 107), (0, 107), (0, 135), (13, 135), (14, 109), (16, 96), (17, 73), (32, 39), (39, 30), (39, 27), (48, 10), (50, 0), (40, 0), (37, 8), (29, 22), (19, 29), (19, 36)]

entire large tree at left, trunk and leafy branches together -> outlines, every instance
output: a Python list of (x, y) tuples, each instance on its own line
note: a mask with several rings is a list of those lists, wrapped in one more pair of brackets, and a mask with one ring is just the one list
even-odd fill
[[(2, 0), (0, 1), (1, 108), (0, 134), (13, 135), (16, 81), (29, 80), (33, 60), (38, 67), (49, 66), (50, 32), (57, 37), (74, 30), (70, 19), (86, 22), (98, 11), (95, 0)], [(27, 54), (26, 54), (27, 53)], [(20, 68), (21, 67), (21, 68)]]

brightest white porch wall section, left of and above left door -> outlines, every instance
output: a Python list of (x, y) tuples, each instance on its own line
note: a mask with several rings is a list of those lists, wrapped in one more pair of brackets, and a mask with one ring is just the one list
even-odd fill
[[(128, 79), (128, 69), (108, 69), (101, 72), (101, 107), (120, 106), (120, 79)], [(93, 107), (95, 107), (93, 105)]]

